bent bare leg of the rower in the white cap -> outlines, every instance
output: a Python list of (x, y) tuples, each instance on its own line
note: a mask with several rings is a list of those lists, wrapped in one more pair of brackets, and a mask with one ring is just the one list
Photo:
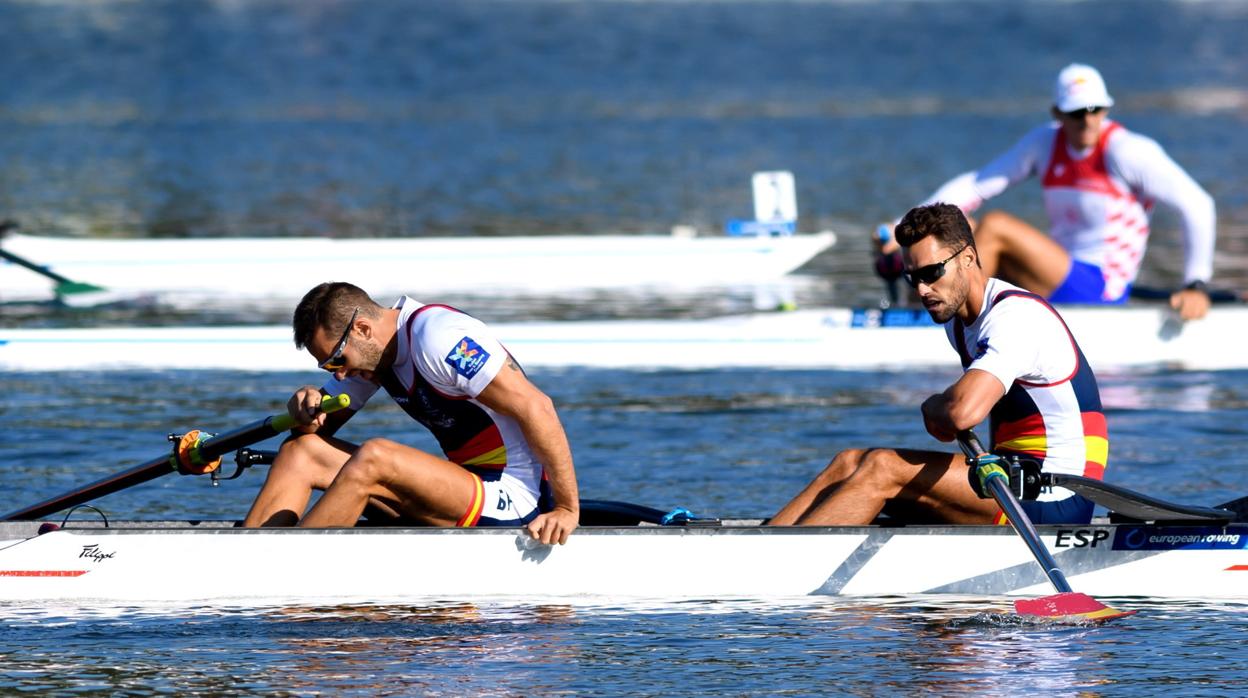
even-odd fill
[(998, 276), (1045, 297), (1071, 271), (1071, 255), (1061, 245), (1005, 211), (988, 211), (978, 220), (975, 248), (987, 276)]

